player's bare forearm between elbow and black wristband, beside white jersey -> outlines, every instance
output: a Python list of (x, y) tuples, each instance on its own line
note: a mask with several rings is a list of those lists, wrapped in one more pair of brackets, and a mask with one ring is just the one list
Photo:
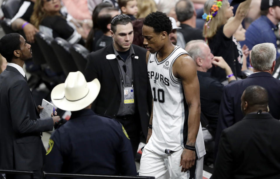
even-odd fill
[(200, 102), (189, 105), (188, 137), (186, 144), (195, 146), (197, 133), (200, 125)]

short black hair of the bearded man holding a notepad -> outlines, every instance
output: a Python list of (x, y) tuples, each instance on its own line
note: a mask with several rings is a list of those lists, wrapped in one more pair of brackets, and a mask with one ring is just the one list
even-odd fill
[(9, 33), (0, 39), (0, 54), (10, 63), (14, 56), (15, 50), (20, 50), (20, 34)]

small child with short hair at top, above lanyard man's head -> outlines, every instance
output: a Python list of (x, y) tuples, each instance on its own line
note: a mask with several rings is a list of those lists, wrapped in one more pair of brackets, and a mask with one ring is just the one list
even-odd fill
[(137, 0), (119, 0), (118, 3), (123, 14), (128, 15), (131, 20), (136, 20), (134, 16), (138, 13)]

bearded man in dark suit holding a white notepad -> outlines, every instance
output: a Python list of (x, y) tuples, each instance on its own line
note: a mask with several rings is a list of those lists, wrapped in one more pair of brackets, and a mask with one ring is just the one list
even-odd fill
[(22, 69), (32, 58), (31, 45), (10, 33), (1, 38), (0, 53), (8, 62), (0, 75), (0, 168), (34, 171), (34, 178), (40, 178), (46, 154), (40, 133), (53, 130), (59, 116), (39, 117), (42, 108), (36, 109)]

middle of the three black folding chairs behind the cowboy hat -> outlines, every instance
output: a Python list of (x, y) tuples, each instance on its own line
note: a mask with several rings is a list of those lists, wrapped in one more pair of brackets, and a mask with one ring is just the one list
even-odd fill
[(69, 51), (71, 44), (67, 40), (57, 37), (52, 40), (51, 45), (61, 63), (65, 76), (68, 76), (69, 72), (78, 71), (77, 65)]

